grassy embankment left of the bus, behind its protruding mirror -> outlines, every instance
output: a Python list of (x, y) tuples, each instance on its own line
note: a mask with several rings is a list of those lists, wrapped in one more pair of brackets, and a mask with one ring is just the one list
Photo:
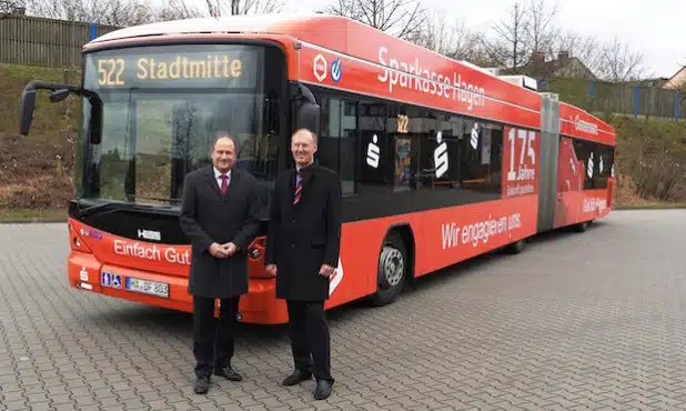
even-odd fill
[(0, 64), (0, 219), (65, 215), (73, 190), (77, 100), (53, 104), (41, 93), (26, 138), (19, 136), (19, 106), (29, 81), (78, 81), (78, 76), (63, 69)]

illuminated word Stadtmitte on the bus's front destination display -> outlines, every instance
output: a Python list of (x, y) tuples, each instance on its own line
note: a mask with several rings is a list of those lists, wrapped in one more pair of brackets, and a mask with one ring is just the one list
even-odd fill
[(243, 63), (229, 56), (208, 56), (205, 60), (192, 60), (176, 56), (172, 62), (140, 58), (137, 66), (137, 76), (140, 80), (175, 80), (239, 78), (242, 74)]

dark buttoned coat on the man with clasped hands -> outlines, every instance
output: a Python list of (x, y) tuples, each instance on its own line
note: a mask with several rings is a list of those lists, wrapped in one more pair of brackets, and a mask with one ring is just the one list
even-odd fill
[[(260, 228), (263, 207), (256, 179), (233, 169), (222, 196), (212, 166), (185, 177), (181, 203), (181, 229), (191, 241), (189, 293), (198, 297), (230, 298), (248, 292), (248, 247)], [(233, 241), (239, 250), (218, 259), (210, 244)]]

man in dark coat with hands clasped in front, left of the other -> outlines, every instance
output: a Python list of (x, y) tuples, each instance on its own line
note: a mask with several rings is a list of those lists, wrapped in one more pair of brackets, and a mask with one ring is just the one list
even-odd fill
[[(258, 181), (233, 169), (235, 140), (220, 134), (212, 163), (185, 177), (181, 228), (191, 241), (189, 293), (193, 295), (195, 393), (208, 392), (212, 371), (232, 381), (231, 367), (239, 299), (248, 293), (248, 247), (259, 230)], [(219, 329), (214, 303), (220, 299)], [(216, 350), (216, 357), (214, 351)]]

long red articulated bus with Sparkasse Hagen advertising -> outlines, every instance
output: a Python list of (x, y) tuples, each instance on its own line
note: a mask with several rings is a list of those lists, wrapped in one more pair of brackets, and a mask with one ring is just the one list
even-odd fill
[[(386, 304), (416, 278), (494, 249), (519, 252), (543, 231), (583, 231), (612, 209), (615, 130), (532, 80), (342, 17), (168, 21), (85, 44), (81, 86), (30, 82), (21, 132), (38, 90), (82, 97), (70, 284), (190, 312), (183, 177), (209, 164), (212, 137), (229, 131), (266, 210), (275, 176), (292, 166), (292, 132), (310, 128), (317, 161), (343, 181), (326, 307)], [(268, 224), (250, 249), (244, 322), (287, 320), (263, 267)]]

